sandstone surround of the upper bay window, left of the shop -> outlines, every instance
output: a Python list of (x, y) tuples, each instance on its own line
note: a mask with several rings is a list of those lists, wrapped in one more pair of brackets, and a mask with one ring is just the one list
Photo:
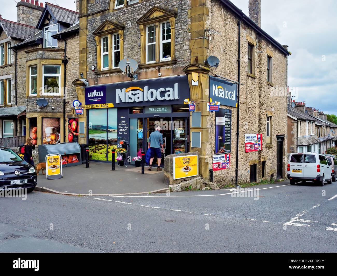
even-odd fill
[[(64, 64), (62, 60), (53, 60), (53, 59), (34, 59), (27, 61), (26, 63), (26, 98), (33, 98), (33, 97), (44, 97), (44, 98), (62, 98), (61, 95), (40, 95), (40, 88), (42, 87), (42, 67), (43, 65), (60, 65), (60, 87), (64, 87)], [(29, 95), (29, 87), (30, 87), (30, 67), (33, 65), (37, 65), (37, 94), (36, 95)]]

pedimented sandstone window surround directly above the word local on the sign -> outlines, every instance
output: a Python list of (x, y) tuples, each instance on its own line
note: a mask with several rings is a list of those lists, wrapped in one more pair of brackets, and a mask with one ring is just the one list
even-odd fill
[[(158, 12), (159, 11), (159, 12)], [(157, 12), (158, 15), (155, 15)], [(152, 17), (150, 17), (153, 15)], [(160, 66), (168, 66), (176, 64), (175, 59), (175, 26), (176, 26), (177, 13), (172, 12), (167, 9), (163, 9), (158, 6), (153, 6), (149, 11), (147, 11), (144, 16), (142, 16), (136, 23), (139, 25), (141, 32), (141, 64), (140, 69), (144, 68), (154, 68)], [(171, 59), (166, 61), (161, 61), (160, 59), (160, 41), (161, 41), (161, 23), (170, 22), (171, 25)], [(146, 47), (147, 47), (147, 26), (156, 26), (156, 61), (152, 63), (146, 63)]]

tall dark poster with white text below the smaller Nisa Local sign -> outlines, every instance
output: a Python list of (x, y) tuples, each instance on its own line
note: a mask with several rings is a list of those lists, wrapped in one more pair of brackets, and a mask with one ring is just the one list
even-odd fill
[(231, 152), (232, 110), (220, 108), (215, 118), (215, 154)]

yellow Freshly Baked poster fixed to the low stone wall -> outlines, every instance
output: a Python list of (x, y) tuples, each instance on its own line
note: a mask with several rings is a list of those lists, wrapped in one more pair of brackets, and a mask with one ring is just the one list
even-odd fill
[(173, 179), (198, 175), (198, 156), (186, 155), (173, 158)]

